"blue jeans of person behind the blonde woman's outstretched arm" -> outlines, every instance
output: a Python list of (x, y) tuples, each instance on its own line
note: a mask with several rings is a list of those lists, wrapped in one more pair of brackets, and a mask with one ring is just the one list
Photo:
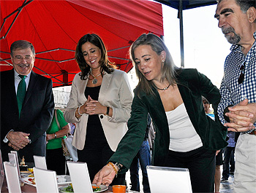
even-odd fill
[(149, 184), (148, 184), (148, 174), (146, 171), (146, 166), (151, 165), (151, 158), (150, 158), (150, 148), (148, 141), (143, 141), (143, 143), (140, 146), (140, 150), (138, 151), (138, 154), (135, 156), (135, 158), (132, 161), (132, 164), (129, 168), (129, 172), (131, 175), (131, 183), (132, 188), (131, 190), (140, 192), (140, 181), (139, 181), (139, 162), (140, 161), (140, 168), (142, 170), (143, 174), (143, 191), (145, 193), (150, 192)]

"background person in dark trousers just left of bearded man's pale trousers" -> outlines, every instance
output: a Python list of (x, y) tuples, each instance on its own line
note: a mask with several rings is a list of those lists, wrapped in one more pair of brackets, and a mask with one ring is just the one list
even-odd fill
[[(221, 182), (228, 181), (228, 177), (231, 173), (234, 173), (235, 170), (235, 161), (234, 161), (234, 154), (235, 154), (235, 132), (227, 131), (227, 143), (228, 145), (224, 149), (224, 163), (223, 163), (223, 171), (222, 171), (222, 180)], [(233, 157), (233, 162), (232, 162)], [(231, 165), (231, 167), (230, 167)]]

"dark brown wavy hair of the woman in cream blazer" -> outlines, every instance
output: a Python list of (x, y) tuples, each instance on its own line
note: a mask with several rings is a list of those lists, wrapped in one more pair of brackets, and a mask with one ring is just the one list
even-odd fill
[(91, 44), (94, 44), (94, 46), (99, 47), (99, 50), (101, 52), (99, 66), (102, 76), (104, 71), (110, 74), (110, 72), (112, 72), (113, 69), (116, 68), (116, 66), (114, 65), (114, 63), (111, 63), (110, 60), (108, 60), (108, 54), (105, 44), (102, 42), (102, 39), (100, 39), (97, 34), (86, 34), (79, 39), (77, 47), (75, 49), (75, 60), (77, 61), (81, 71), (81, 79), (88, 79), (88, 74), (91, 68), (89, 64), (86, 63), (86, 60), (84, 60), (83, 58), (82, 45), (86, 42), (90, 42)]

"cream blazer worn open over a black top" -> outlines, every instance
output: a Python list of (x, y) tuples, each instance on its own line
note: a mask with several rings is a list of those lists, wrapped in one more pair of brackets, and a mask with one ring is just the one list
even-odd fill
[[(77, 119), (75, 117), (75, 109), (87, 101), (84, 95), (87, 82), (88, 79), (80, 79), (79, 73), (75, 75), (67, 109), (64, 111), (64, 118), (67, 122), (77, 123), (72, 145), (79, 150), (83, 149), (86, 142), (86, 128), (89, 115), (83, 114)], [(132, 106), (132, 90), (129, 86), (128, 76), (124, 71), (115, 69), (112, 73), (106, 73), (103, 76), (98, 101), (102, 106), (109, 106), (113, 109), (112, 117), (99, 114), (99, 120), (110, 149), (116, 151), (121, 138), (127, 133), (127, 121), (130, 117)]]

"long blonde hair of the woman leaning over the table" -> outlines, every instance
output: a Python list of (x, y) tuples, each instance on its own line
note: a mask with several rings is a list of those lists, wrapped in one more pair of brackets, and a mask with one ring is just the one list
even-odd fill
[(152, 87), (155, 87), (153, 82), (148, 81), (145, 76), (143, 76), (135, 63), (135, 49), (141, 45), (151, 46), (152, 50), (154, 50), (157, 55), (161, 55), (162, 51), (166, 52), (165, 62), (163, 63), (161, 68), (161, 81), (167, 79), (167, 82), (169, 82), (171, 85), (176, 84), (176, 70), (178, 70), (178, 67), (175, 66), (173, 58), (170, 55), (170, 52), (167, 49), (165, 43), (162, 41), (161, 38), (159, 38), (159, 36), (156, 36), (154, 34), (142, 34), (138, 37), (138, 39), (135, 40), (135, 42), (133, 42), (132, 46), (129, 49), (129, 55), (132, 60), (133, 66), (135, 66), (135, 71), (139, 79), (138, 85), (136, 87), (136, 90), (138, 90), (138, 92), (135, 92), (135, 95), (138, 95), (140, 97), (140, 91), (146, 92), (147, 95), (154, 95)]

